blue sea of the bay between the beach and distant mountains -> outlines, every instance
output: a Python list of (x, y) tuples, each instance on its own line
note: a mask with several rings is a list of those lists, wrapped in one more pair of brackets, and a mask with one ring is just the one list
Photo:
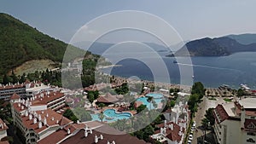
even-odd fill
[[(233, 89), (238, 89), (241, 84), (247, 84), (249, 88), (256, 89), (256, 52), (241, 52), (228, 56), (190, 57), (191, 62), (182, 60), (188, 58), (166, 57), (168, 54), (166, 52), (158, 54), (160, 56), (144, 54), (143, 60), (132, 58), (132, 56), (125, 58), (125, 56), (120, 56), (121, 54), (119, 56), (104, 55), (113, 64), (120, 66), (108, 67), (101, 71), (124, 78), (135, 77), (162, 83), (191, 85), (194, 82), (201, 82), (207, 88), (218, 88), (225, 84)], [(162, 67), (166, 67), (168, 75), (162, 72), (165, 71)], [(187, 72), (189, 77), (181, 80), (181, 73), (183, 73), (181, 71), (187, 71), (186, 68), (192, 69), (192, 72)], [(158, 71), (153, 71), (154, 69)]]

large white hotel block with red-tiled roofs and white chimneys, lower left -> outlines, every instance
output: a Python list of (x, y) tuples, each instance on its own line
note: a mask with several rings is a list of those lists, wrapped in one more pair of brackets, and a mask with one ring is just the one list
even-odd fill
[(43, 92), (33, 95), (31, 99), (21, 100), (12, 96), (11, 112), (15, 126), (20, 129), (26, 143), (37, 143), (66, 124), (73, 123), (54, 110), (65, 104), (63, 93)]

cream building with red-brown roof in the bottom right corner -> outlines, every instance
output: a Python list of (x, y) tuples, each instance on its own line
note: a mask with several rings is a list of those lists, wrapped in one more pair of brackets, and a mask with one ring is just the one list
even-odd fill
[(214, 112), (214, 131), (220, 144), (256, 142), (256, 98), (218, 105)]

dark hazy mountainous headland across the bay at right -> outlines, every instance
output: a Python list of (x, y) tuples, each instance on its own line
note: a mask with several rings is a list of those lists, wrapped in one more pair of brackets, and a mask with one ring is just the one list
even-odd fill
[(256, 34), (241, 34), (190, 41), (176, 53), (167, 56), (224, 56), (254, 51), (256, 51)]

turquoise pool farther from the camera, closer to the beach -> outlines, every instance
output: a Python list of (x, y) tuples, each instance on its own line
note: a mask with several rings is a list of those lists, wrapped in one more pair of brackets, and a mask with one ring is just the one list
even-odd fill
[[(164, 99), (163, 95), (161, 94), (149, 93), (146, 96), (152, 96), (154, 98), (153, 101), (155, 101), (157, 105), (160, 104), (160, 102)], [(140, 97), (137, 99), (137, 101), (142, 101), (143, 105), (146, 105), (148, 110), (152, 110), (156, 108), (153, 106), (153, 103), (148, 102), (148, 97)]]

